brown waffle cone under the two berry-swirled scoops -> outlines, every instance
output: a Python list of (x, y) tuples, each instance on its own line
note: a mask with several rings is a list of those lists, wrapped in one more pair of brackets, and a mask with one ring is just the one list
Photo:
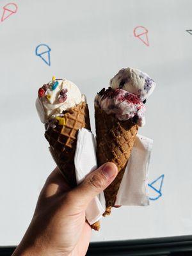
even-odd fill
[(104, 190), (106, 198), (105, 216), (111, 213), (111, 207), (115, 205), (120, 182), (136, 139), (138, 125), (131, 120), (120, 121), (114, 115), (108, 115), (95, 106), (95, 127), (98, 166), (112, 162), (118, 168), (118, 175), (115, 180)]

